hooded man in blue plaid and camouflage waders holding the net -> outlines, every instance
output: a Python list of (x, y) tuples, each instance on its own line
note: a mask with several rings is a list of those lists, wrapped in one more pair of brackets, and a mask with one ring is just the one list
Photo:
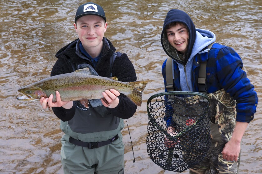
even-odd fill
[[(241, 139), (258, 103), (239, 55), (215, 40), (211, 31), (196, 29), (184, 11), (173, 9), (167, 13), (161, 43), (172, 59), (169, 63), (168, 58), (162, 67), (165, 91), (199, 92), (200, 64), (206, 62), (203, 89), (210, 97), (211, 129), (214, 126), (218, 132), (215, 135), (211, 131), (210, 150), (201, 163), (189, 169), (191, 174), (238, 173)], [(209, 49), (211, 43), (214, 44)], [(168, 66), (171, 71), (166, 71)], [(167, 85), (169, 76), (171, 83)], [(167, 131), (176, 135), (172, 113), (167, 115)]]

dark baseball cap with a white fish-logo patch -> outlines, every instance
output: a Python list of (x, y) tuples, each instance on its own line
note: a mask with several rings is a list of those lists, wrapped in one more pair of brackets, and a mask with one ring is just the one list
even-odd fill
[(75, 14), (75, 22), (82, 16), (85, 15), (96, 15), (96, 16), (100, 16), (104, 19), (104, 21), (106, 21), (106, 17), (104, 14), (104, 9), (99, 6), (96, 3), (93, 2), (88, 2), (85, 4), (82, 4), (78, 7), (76, 14)]

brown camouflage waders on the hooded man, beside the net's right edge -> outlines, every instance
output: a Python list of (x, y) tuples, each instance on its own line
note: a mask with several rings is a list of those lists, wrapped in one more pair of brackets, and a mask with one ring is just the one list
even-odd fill
[(224, 161), (222, 150), (235, 128), (235, 100), (224, 89), (208, 94), (211, 109), (211, 146), (205, 159), (189, 169), (191, 174), (238, 173), (237, 161)]

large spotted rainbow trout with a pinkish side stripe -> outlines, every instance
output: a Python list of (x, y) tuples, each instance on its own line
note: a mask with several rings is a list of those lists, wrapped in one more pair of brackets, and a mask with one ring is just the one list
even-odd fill
[(53, 102), (55, 102), (55, 93), (58, 91), (62, 101), (79, 100), (84, 106), (87, 106), (88, 99), (103, 98), (103, 91), (115, 89), (119, 93), (125, 94), (137, 106), (141, 106), (142, 92), (147, 83), (147, 81), (121, 82), (117, 77), (93, 76), (89, 68), (84, 68), (24, 86), (18, 89), (18, 92), (24, 95), (17, 97), (17, 99), (39, 100), (41, 97), (46, 98), (53, 94)]

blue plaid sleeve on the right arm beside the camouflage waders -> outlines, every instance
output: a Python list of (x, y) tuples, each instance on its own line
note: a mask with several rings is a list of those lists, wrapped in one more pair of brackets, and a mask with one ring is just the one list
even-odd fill
[(234, 49), (224, 47), (217, 53), (217, 76), (221, 86), (236, 100), (236, 121), (249, 123), (254, 118), (258, 97), (242, 67)]

